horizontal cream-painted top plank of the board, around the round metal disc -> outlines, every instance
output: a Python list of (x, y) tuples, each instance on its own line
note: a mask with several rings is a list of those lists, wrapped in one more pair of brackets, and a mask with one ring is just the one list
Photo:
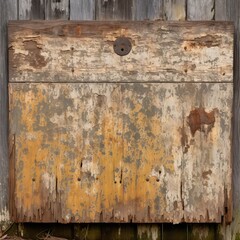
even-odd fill
[(12, 22), (9, 81), (231, 82), (232, 34), (228, 22)]

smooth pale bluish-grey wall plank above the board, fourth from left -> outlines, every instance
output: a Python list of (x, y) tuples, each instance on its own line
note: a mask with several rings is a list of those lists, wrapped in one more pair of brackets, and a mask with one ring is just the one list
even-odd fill
[(95, 0), (70, 0), (70, 20), (94, 20)]

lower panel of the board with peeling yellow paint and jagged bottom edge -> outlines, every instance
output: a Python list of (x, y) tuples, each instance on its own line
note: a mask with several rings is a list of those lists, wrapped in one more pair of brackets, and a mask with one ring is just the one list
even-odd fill
[(231, 205), (231, 83), (11, 83), (9, 95), (15, 221), (221, 222)]

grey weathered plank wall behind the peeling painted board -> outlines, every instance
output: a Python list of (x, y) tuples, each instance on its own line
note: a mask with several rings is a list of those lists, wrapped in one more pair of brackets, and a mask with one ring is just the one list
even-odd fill
[[(7, 21), (17, 19), (69, 20), (231, 20), (235, 22), (235, 101), (233, 144), (234, 221), (221, 226), (225, 239), (240, 236), (240, 163), (239, 163), (239, 0), (0, 0), (0, 221), (8, 216), (8, 106), (7, 106)], [(171, 232), (171, 227), (164, 226)], [(139, 233), (155, 231), (156, 226), (141, 226)], [(163, 228), (163, 226), (161, 226)], [(158, 227), (157, 227), (158, 229)], [(212, 234), (211, 226), (181, 226), (182, 232)], [(215, 230), (214, 230), (215, 231)], [(196, 239), (196, 237), (194, 238)], [(237, 239), (237, 238), (236, 238)]]

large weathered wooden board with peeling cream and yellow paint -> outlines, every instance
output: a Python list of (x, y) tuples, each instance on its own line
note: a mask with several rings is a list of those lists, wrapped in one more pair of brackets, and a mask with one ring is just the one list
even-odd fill
[(233, 26), (11, 22), (11, 214), (231, 221)]

